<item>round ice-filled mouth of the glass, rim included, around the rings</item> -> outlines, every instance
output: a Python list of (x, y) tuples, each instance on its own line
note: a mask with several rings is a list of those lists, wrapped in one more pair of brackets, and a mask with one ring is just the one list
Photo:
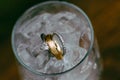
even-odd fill
[[(62, 60), (41, 49), (43, 33), (62, 35), (66, 48)], [(12, 32), (12, 47), (26, 69), (39, 75), (57, 75), (82, 65), (92, 49), (93, 39), (91, 22), (80, 8), (50, 1), (28, 9), (19, 18)]]

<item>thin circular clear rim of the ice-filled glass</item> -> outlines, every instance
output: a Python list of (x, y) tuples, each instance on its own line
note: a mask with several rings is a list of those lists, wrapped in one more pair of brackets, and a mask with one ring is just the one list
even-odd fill
[[(90, 46), (89, 46), (89, 49), (87, 50), (87, 53), (85, 54), (85, 56), (80, 60), (80, 62), (78, 64), (76, 64), (75, 66), (73, 66), (72, 68), (68, 69), (68, 70), (65, 70), (63, 72), (58, 72), (58, 73), (43, 73), (43, 72), (38, 72), (36, 70), (34, 70), (33, 68), (27, 66), (21, 59), (20, 57), (18, 56), (17, 54), (17, 50), (15, 48), (15, 43), (14, 43), (14, 33), (15, 33), (15, 28), (16, 28), (16, 24), (19, 23), (20, 21), (20, 18), (26, 14), (27, 12), (31, 11), (32, 9), (34, 8), (37, 8), (38, 6), (42, 6), (42, 5), (45, 5), (45, 4), (50, 4), (50, 3), (58, 3), (58, 4), (63, 4), (63, 5), (67, 5), (67, 6), (70, 6), (72, 8), (75, 8), (76, 10), (78, 10), (80, 13), (82, 13), (82, 15), (86, 18), (86, 20), (88, 21), (88, 24), (89, 24), (89, 28), (90, 28), (90, 31), (91, 31), (91, 42), (90, 42)], [(29, 8), (27, 11), (25, 11), (24, 13), (16, 22), (16, 24), (14, 25), (13, 27), (13, 30), (12, 30), (12, 37), (11, 37), (11, 43), (12, 43), (12, 49), (13, 49), (13, 53), (15, 54), (15, 57), (16, 59), (18, 60), (18, 62), (24, 67), (26, 68), (27, 70), (33, 72), (34, 74), (37, 74), (37, 75), (40, 75), (40, 76), (54, 76), (54, 75), (60, 75), (60, 74), (63, 74), (63, 73), (67, 73), (71, 70), (73, 70), (74, 68), (76, 68), (77, 66), (79, 66), (84, 60), (85, 58), (88, 56), (88, 54), (91, 52), (92, 50), (92, 47), (93, 47), (93, 42), (94, 42), (94, 30), (93, 30), (93, 27), (92, 27), (92, 24), (91, 24), (91, 21), (90, 19), (88, 18), (88, 16), (86, 15), (86, 13), (78, 6), (72, 4), (72, 3), (69, 3), (69, 2), (65, 2), (65, 1), (46, 1), (46, 2), (42, 2), (42, 3), (39, 3), (31, 8)]]

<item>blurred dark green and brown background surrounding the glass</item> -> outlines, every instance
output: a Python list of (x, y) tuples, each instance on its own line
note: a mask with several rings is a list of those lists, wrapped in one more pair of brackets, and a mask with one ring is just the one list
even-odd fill
[[(11, 32), (23, 12), (43, 1), (0, 0), (0, 80), (20, 80)], [(81, 7), (93, 24), (104, 67), (101, 80), (120, 80), (120, 0), (62, 1)]]

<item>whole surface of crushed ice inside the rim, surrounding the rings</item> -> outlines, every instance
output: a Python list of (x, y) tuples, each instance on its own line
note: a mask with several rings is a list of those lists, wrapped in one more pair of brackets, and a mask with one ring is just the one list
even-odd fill
[[(71, 12), (56, 14), (43, 13), (34, 17), (19, 28), (16, 33), (17, 51), (23, 62), (34, 70), (43, 73), (60, 73), (77, 65), (87, 53), (87, 36), (81, 36), (84, 30), (81, 19)], [(86, 27), (87, 28), (87, 27)], [(42, 41), (41, 34), (58, 32), (62, 35), (66, 53), (63, 60), (57, 60)], [(81, 38), (81, 39), (80, 39)], [(86, 43), (85, 45), (87, 45)]]

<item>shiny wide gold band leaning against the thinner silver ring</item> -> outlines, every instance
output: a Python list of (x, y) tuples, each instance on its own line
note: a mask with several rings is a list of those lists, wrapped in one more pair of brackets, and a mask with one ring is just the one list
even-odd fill
[(47, 43), (50, 52), (58, 59), (61, 60), (63, 58), (63, 50), (57, 41), (53, 40), (53, 35), (48, 34), (45, 36), (45, 42)]

